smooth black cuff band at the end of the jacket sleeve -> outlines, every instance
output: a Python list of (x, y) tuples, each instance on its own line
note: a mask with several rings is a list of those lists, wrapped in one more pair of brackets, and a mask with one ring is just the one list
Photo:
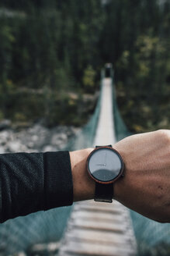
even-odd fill
[(73, 203), (73, 182), (68, 151), (43, 153), (44, 210)]

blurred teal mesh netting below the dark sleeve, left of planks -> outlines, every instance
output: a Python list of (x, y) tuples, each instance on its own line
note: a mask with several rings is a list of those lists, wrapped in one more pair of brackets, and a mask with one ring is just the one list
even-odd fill
[(36, 212), (0, 225), (0, 248), (5, 254), (26, 251), (31, 245), (60, 240), (71, 207)]

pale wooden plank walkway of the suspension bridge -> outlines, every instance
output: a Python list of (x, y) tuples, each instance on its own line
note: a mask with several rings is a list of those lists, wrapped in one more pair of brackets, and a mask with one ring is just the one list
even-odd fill
[[(101, 110), (95, 145), (116, 143), (113, 119), (112, 80), (102, 82)], [(60, 256), (132, 256), (137, 254), (130, 213), (117, 201), (113, 204), (75, 203), (59, 251)]]

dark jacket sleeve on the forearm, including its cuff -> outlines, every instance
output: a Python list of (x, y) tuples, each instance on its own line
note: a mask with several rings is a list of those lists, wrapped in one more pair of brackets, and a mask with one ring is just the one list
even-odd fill
[(0, 154), (0, 222), (72, 201), (68, 151)]

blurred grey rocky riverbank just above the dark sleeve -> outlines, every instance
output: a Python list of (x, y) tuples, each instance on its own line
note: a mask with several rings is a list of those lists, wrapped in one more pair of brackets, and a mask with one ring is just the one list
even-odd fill
[(68, 140), (78, 130), (74, 126), (56, 126), (52, 129), (36, 123), (29, 128), (0, 131), (0, 154), (14, 152), (58, 151), (66, 147)]

